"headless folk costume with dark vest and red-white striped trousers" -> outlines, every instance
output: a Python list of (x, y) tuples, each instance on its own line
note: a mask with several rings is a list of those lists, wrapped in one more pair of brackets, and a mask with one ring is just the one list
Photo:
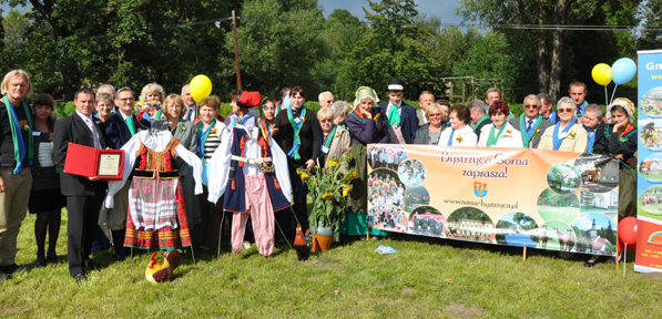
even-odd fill
[(236, 125), (221, 142), (211, 160), (210, 195), (216, 203), (225, 194), (223, 208), (233, 213), (232, 250), (242, 253), (248, 214), (255, 245), (263, 256), (274, 251), (274, 212), (289, 208), (292, 185), (287, 156), (278, 144), (257, 126)]

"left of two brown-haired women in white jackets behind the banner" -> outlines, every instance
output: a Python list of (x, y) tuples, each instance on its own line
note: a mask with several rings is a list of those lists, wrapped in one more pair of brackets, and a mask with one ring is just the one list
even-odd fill
[(469, 107), (465, 105), (455, 105), (450, 109), (449, 123), (450, 127), (447, 127), (441, 132), (439, 137), (439, 145), (447, 146), (476, 146), (478, 143), (478, 136), (469, 126), (471, 122), (471, 112)]

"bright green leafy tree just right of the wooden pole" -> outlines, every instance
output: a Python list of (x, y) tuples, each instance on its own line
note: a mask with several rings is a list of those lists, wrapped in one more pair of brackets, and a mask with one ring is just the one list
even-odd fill
[[(241, 16), (259, 18), (242, 19), (237, 23), (242, 89), (274, 94), (283, 86), (302, 85), (308, 99), (314, 96), (319, 89), (310, 76), (312, 70), (315, 62), (326, 54), (318, 31), (324, 17), (317, 1), (246, 1)], [(232, 33), (226, 34), (224, 44), (226, 54), (221, 59), (222, 74), (234, 80), (236, 70)], [(228, 81), (227, 89), (235, 88), (235, 83)]]

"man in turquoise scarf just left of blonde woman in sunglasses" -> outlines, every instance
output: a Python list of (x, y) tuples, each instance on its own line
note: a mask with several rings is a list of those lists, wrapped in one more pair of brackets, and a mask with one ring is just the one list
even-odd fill
[(508, 123), (522, 134), (522, 143), (524, 144), (524, 147), (529, 147), (529, 143), (532, 142), (532, 147), (538, 148), (540, 137), (544, 130), (554, 124), (542, 119), (542, 115), (539, 114), (540, 99), (538, 95), (527, 95), (527, 97), (524, 97), (523, 109), (524, 113), (522, 113), (522, 115), (510, 119)]

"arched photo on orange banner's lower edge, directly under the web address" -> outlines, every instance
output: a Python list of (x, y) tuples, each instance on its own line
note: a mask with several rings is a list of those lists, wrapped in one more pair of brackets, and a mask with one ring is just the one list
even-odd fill
[(479, 243), (495, 241), (495, 223), (490, 216), (478, 208), (459, 208), (452, 212), (447, 220), (446, 237), (448, 238)]

